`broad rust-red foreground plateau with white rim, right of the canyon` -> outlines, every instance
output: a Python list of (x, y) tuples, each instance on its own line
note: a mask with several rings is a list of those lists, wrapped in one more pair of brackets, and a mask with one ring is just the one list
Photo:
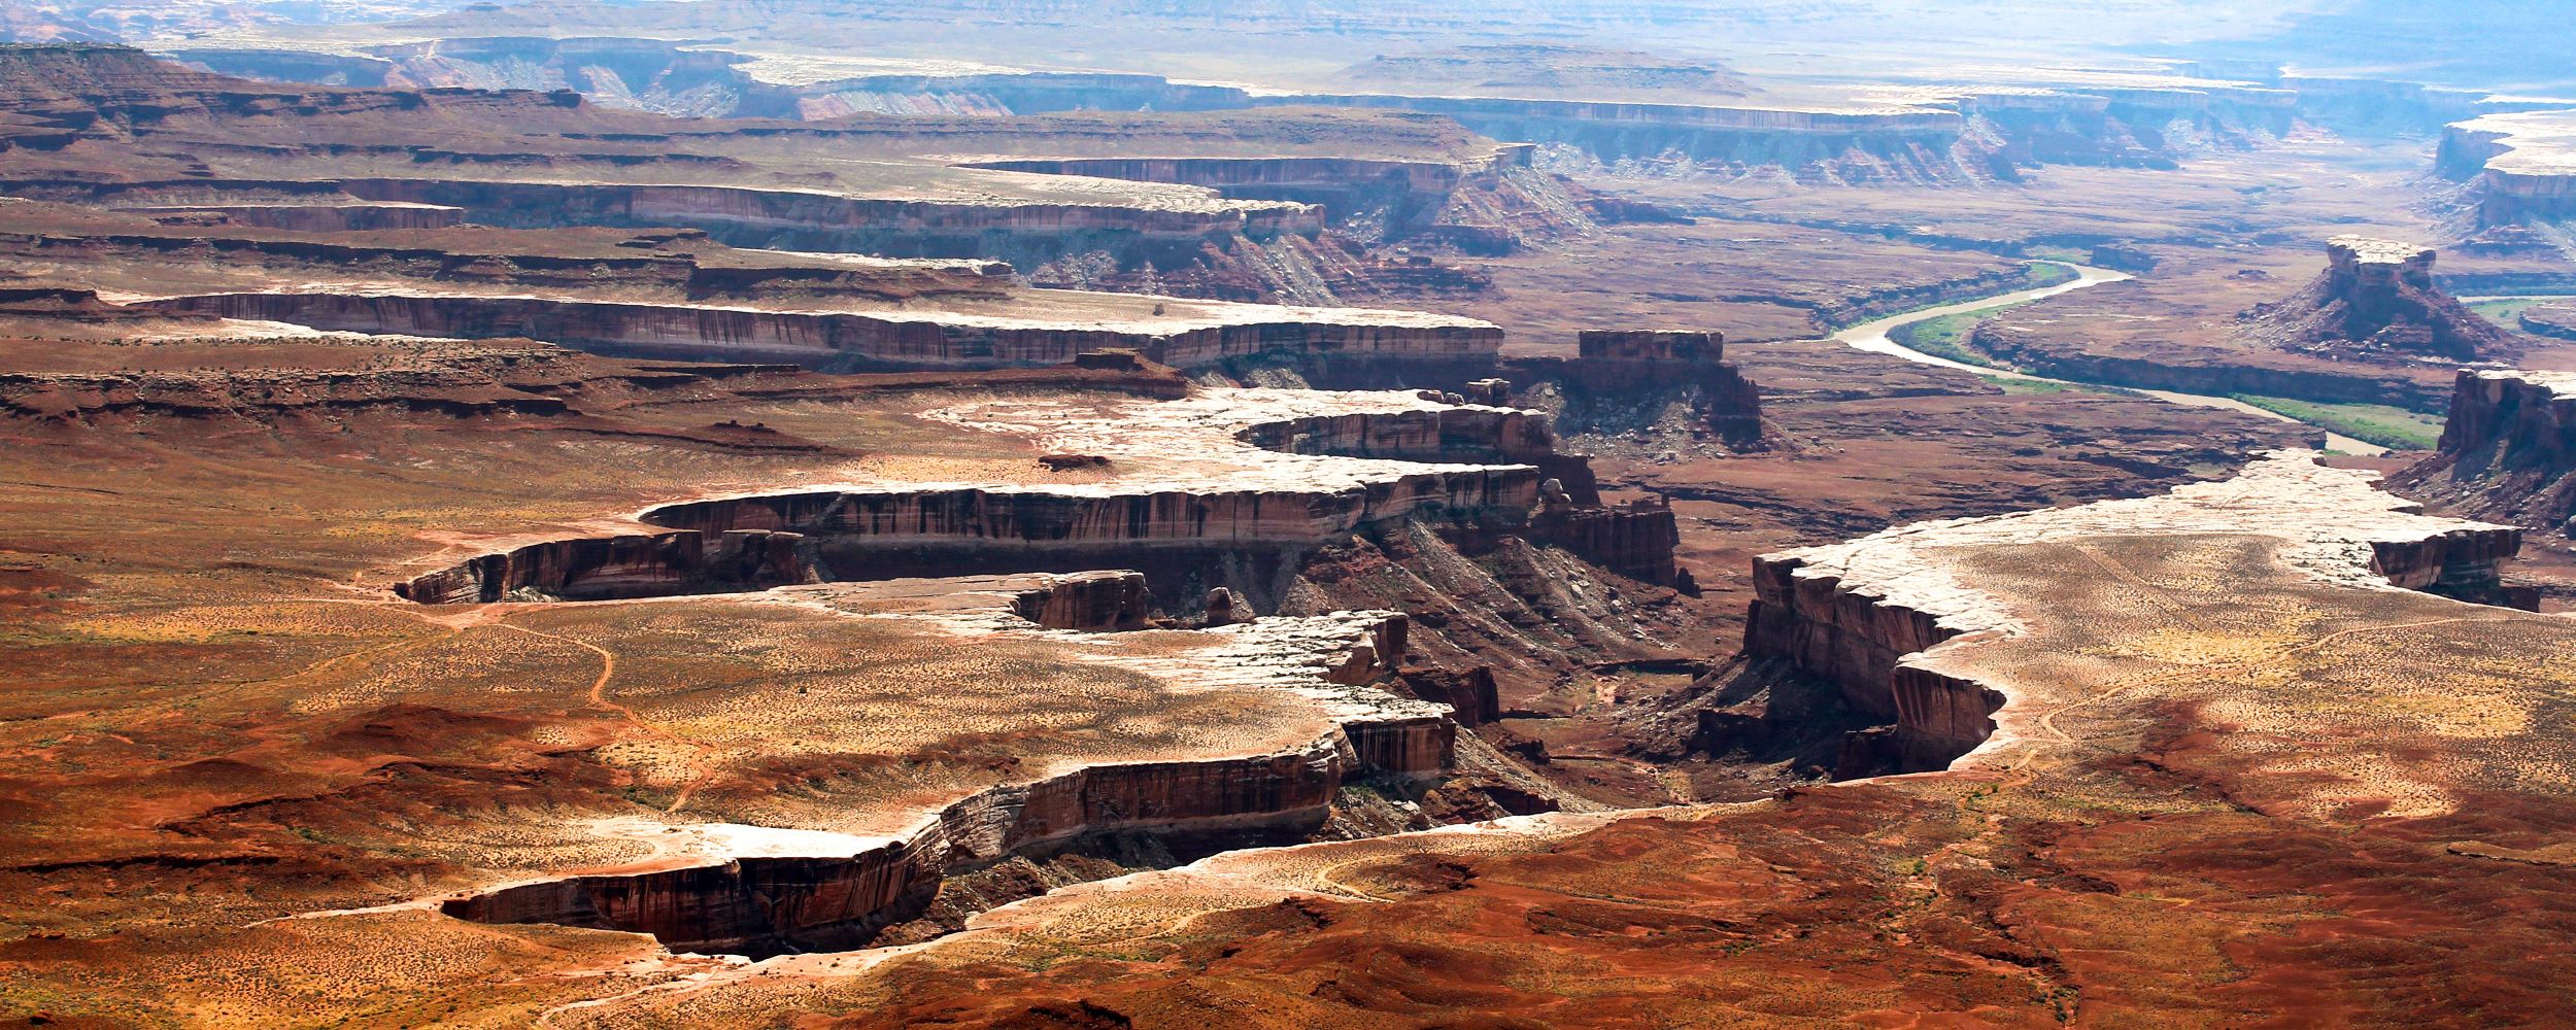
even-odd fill
[[(2275, 453), (2166, 497), (1806, 548), (1770, 559), (1801, 561), (1780, 582), (1953, 633), (1899, 670), (2009, 698), (2002, 731), (1937, 775), (1244, 850), (1002, 906), (855, 966), (768, 968), (806, 979), (796, 1004), (889, 1027), (933, 1012), (1023, 1025), (1064, 997), (1103, 1020), (1577, 1004), (1610, 1015), (1566, 1022), (1891, 1007), (2223, 1022), (2300, 1012), (2308, 994), (2277, 984), (2308, 976), (2375, 1012), (2447, 1012), (2357, 973), (2396, 960), (2447, 979), (2460, 948), (2504, 960), (2512, 945), (2481, 940), (2545, 935), (2566, 901), (2543, 883), (2566, 863), (2550, 811), (2576, 762), (2537, 724), (2568, 700), (2576, 639), (2406, 590), (2512, 541)], [(2532, 888), (2548, 914), (2514, 909)], [(2460, 901), (2476, 912), (2447, 912)], [(1404, 958), (1342, 994), (1352, 948)], [(2174, 958), (2141, 968), (2136, 948)], [(1685, 966), (1700, 976), (1669, 976)], [(974, 994), (956, 986), (969, 973)], [(1814, 989), (1844, 979), (1857, 986)], [(611, 1004), (600, 1025), (786, 999), (734, 976)]]

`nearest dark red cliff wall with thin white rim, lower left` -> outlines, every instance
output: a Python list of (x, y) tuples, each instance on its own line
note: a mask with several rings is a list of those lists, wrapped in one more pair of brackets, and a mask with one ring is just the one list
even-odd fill
[[(979, 587), (963, 585), (969, 592)], [(914, 615), (958, 618), (958, 615)], [(1020, 633), (976, 615), (963, 633)], [(1373, 682), (1404, 662), (1404, 615), (1334, 613), (1211, 631), (1213, 646), (1146, 659), (1157, 675), (1218, 675), (1327, 700), (1334, 731), (1306, 747), (1193, 762), (1079, 765), (948, 803), (891, 839), (693, 824), (696, 855), (652, 868), (569, 876), (459, 896), (440, 912), (477, 922), (551, 922), (647, 932), (670, 950), (775, 955), (860, 948), (917, 917), (953, 870), (1010, 855), (1149, 834), (1182, 855), (1316, 832), (1342, 780), (1363, 770), (1435, 775), (1453, 760), (1445, 708)], [(690, 847), (672, 847), (688, 852)]]

